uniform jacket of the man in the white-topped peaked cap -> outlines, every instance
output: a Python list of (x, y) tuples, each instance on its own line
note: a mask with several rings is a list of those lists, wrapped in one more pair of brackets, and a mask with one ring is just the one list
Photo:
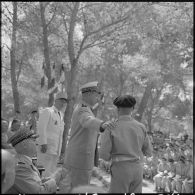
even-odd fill
[(75, 107), (65, 153), (66, 166), (83, 170), (93, 168), (97, 136), (102, 122), (86, 104)]

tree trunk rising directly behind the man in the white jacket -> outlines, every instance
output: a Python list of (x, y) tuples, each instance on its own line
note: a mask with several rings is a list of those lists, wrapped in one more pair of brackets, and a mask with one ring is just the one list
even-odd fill
[[(47, 31), (47, 24), (45, 21), (45, 7), (43, 3), (40, 2), (40, 11), (41, 11), (41, 22), (43, 28), (43, 50), (44, 50), (44, 59), (46, 64), (46, 76), (48, 78), (47, 88), (50, 89), (55, 85), (55, 82), (52, 82), (51, 78), (51, 66), (50, 66), (50, 55), (49, 55), (49, 44), (48, 44), (48, 31)], [(54, 102), (54, 93), (49, 94), (48, 106), (52, 106)]]

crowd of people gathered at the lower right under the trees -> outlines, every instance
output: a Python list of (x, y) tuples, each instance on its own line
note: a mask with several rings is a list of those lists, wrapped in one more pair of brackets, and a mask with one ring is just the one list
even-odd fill
[(161, 138), (162, 142), (153, 142), (152, 157), (145, 157), (144, 177), (154, 181), (157, 192), (192, 193), (192, 138), (165, 139), (163, 134)]

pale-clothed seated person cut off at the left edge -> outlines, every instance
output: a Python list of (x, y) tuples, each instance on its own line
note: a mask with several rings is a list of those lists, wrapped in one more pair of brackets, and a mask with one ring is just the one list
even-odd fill
[(1, 149), (1, 158), (1, 193), (5, 194), (14, 184), (15, 158), (4, 149)]

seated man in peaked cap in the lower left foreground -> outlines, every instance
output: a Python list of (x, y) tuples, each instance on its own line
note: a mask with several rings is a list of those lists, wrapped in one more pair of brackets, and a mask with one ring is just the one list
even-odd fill
[(17, 152), (15, 182), (8, 190), (9, 194), (55, 193), (59, 181), (65, 174), (64, 170), (59, 168), (50, 177), (41, 179), (38, 169), (32, 162), (32, 158), (37, 155), (35, 138), (37, 135), (24, 128), (18, 130), (8, 140)]

